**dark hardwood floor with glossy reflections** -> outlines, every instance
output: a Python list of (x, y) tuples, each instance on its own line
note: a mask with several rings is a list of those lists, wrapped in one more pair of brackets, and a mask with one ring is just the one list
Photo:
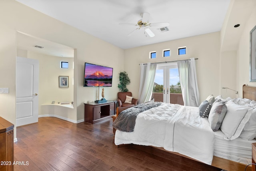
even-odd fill
[[(154, 147), (113, 143), (112, 119), (71, 123), (40, 117), (38, 123), (17, 128), (15, 171), (220, 171)], [(26, 165), (27, 164), (27, 165)]]

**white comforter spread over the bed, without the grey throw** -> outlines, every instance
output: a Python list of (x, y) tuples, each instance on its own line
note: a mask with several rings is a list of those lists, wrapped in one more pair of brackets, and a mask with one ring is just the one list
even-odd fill
[(116, 130), (115, 144), (129, 143), (164, 147), (210, 165), (214, 133), (198, 107), (163, 103), (138, 114), (133, 132)]

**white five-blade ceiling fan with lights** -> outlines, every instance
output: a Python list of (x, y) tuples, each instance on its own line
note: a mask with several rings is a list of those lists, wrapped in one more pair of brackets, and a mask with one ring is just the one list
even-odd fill
[[(150, 14), (148, 12), (144, 12), (141, 15), (142, 15), (142, 19), (138, 20), (137, 24), (132, 24), (132, 23), (119, 23), (119, 24), (120, 25), (130, 25), (130, 26), (139, 26), (135, 30), (140, 30), (141, 28), (143, 28), (144, 31), (150, 37), (154, 37), (155, 34), (149, 29), (149, 27), (166, 27), (166, 26), (170, 25), (170, 23), (168, 23), (168, 22), (149, 23), (148, 19), (149, 19)], [(130, 32), (130, 34), (128, 34), (128, 36), (131, 36), (135, 30)]]

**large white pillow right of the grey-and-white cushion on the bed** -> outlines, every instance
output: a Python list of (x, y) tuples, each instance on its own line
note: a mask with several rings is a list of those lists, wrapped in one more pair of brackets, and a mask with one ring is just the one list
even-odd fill
[(240, 136), (246, 122), (252, 114), (252, 107), (237, 105), (234, 101), (226, 102), (227, 113), (220, 126), (221, 131), (225, 134), (224, 139), (232, 140)]

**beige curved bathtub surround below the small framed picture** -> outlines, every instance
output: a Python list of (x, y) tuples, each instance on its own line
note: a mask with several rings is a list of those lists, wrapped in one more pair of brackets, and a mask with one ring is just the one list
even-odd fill
[(78, 123), (76, 110), (71, 103), (42, 104), (38, 117), (58, 117), (66, 121)]

